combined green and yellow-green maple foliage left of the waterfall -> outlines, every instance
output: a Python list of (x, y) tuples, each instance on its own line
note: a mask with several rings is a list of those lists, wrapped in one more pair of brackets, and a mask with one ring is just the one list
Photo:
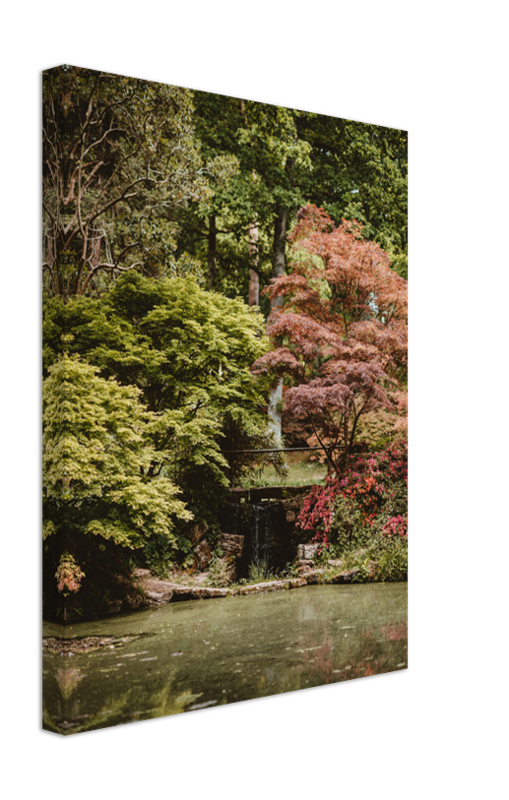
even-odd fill
[(191, 520), (213, 528), (230, 478), (249, 469), (229, 474), (232, 430), (271, 443), (249, 369), (267, 347), (242, 301), (191, 279), (131, 272), (102, 298), (47, 300), (45, 537), (65, 525), (121, 547), (151, 538), (154, 562), (189, 555)]

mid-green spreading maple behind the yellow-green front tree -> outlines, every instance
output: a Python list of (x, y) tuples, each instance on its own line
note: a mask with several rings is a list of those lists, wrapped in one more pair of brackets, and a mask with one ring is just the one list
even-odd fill
[(169, 477), (190, 510), (213, 522), (221, 490), (249, 468), (226, 451), (237, 449), (239, 437), (270, 446), (267, 382), (250, 371), (270, 346), (260, 316), (190, 278), (136, 272), (120, 276), (103, 297), (51, 298), (45, 307), (44, 369), (61, 352), (61, 333), (72, 331), (71, 352), (103, 377), (139, 389), (153, 414), (144, 473)]

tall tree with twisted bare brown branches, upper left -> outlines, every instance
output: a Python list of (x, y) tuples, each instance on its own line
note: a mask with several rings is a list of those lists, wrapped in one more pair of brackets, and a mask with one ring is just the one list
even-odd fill
[(208, 192), (189, 89), (64, 65), (43, 72), (43, 272), (64, 299), (158, 269), (172, 211)]

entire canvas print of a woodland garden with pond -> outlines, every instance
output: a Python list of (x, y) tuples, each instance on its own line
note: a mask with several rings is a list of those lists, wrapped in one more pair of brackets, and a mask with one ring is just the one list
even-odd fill
[(408, 669), (408, 131), (42, 87), (42, 719)]

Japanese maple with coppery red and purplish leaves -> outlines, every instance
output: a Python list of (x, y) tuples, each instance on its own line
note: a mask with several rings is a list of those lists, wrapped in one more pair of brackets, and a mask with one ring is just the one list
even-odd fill
[(252, 369), (291, 376), (285, 410), (311, 425), (329, 472), (339, 473), (361, 414), (405, 405), (407, 395), (391, 399), (390, 389), (408, 369), (408, 282), (355, 220), (334, 227), (308, 205), (288, 238), (292, 272), (264, 290), (282, 298), (268, 321), (274, 349)]

